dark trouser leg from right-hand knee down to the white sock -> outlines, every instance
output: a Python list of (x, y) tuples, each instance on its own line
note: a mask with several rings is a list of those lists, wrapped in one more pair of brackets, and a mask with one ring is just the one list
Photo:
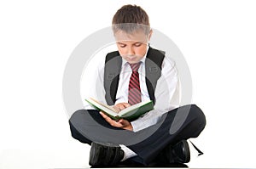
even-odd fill
[[(186, 113), (187, 115), (183, 116)], [(181, 121), (183, 121), (182, 124), (180, 124)], [(134, 161), (148, 164), (167, 145), (176, 144), (183, 139), (196, 138), (205, 125), (206, 119), (201, 109), (195, 104), (186, 105), (168, 112), (156, 132), (142, 142), (128, 147), (138, 155), (138, 157), (133, 159)], [(172, 130), (172, 128), (176, 129)]]

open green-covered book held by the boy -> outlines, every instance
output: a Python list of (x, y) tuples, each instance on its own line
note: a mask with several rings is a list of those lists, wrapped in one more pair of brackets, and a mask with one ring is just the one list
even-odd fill
[(119, 112), (107, 104), (100, 103), (96, 99), (90, 98), (85, 99), (85, 101), (96, 108), (96, 110), (103, 111), (113, 120), (125, 119), (127, 121), (133, 121), (136, 120), (139, 116), (147, 113), (149, 110), (154, 109), (152, 100), (131, 105), (130, 107), (127, 107), (124, 110), (120, 110)]

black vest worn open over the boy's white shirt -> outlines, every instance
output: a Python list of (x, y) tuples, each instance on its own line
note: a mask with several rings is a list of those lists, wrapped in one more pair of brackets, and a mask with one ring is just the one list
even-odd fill
[[(153, 100), (153, 103), (155, 103), (154, 90), (161, 76), (161, 65), (164, 58), (165, 52), (148, 48), (148, 54), (145, 59), (146, 85), (149, 97)], [(121, 66), (122, 58), (118, 51), (107, 54), (104, 68), (104, 88), (106, 91), (105, 99), (108, 105), (113, 105), (116, 101), (115, 97), (119, 86)]]

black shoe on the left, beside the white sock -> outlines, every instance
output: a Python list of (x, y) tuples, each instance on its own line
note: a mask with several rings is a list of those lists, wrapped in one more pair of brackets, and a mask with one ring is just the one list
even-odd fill
[(91, 143), (90, 166), (114, 166), (124, 158), (124, 151), (117, 144)]

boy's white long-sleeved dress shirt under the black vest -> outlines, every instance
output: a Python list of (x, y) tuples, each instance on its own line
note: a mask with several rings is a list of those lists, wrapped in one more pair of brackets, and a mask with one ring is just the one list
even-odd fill
[[(142, 64), (139, 67), (139, 80), (140, 87), (142, 92), (142, 101), (149, 100), (148, 88), (145, 80), (145, 59), (146, 54), (141, 59)], [(88, 79), (86, 81), (86, 93), (83, 93), (83, 96), (86, 98), (93, 97), (101, 101), (102, 103), (107, 104), (105, 100), (105, 90), (104, 90), (104, 65), (105, 58), (102, 59), (98, 65), (96, 66), (96, 71), (91, 71), (90, 74), (94, 79)], [(122, 59), (122, 67), (119, 74), (119, 86), (116, 94), (116, 102), (119, 103), (128, 103), (128, 87), (130, 82), (132, 70), (129, 63)], [(97, 77), (97, 78), (96, 78)], [(85, 76), (86, 78), (86, 76)], [(161, 115), (166, 113), (167, 111), (173, 110), (178, 107), (179, 104), (179, 79), (177, 76), (177, 68), (172, 59), (167, 56), (163, 60), (161, 76), (157, 81), (157, 85), (155, 87), (155, 104), (154, 110), (148, 111), (145, 115), (139, 117), (135, 121), (131, 121), (131, 125), (133, 127), (133, 131), (137, 132), (142, 130), (143, 128), (152, 126), (156, 124)], [(84, 109), (94, 109), (84, 102)]]

